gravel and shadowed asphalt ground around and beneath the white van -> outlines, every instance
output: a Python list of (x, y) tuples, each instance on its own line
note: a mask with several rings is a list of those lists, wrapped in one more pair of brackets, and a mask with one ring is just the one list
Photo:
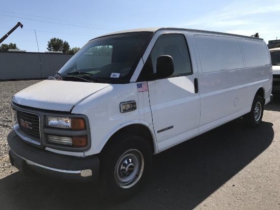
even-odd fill
[(111, 203), (91, 183), (23, 177), (9, 165), (10, 97), (35, 82), (0, 82), (0, 209), (280, 209), (279, 95), (257, 129), (236, 119), (155, 155), (144, 189)]

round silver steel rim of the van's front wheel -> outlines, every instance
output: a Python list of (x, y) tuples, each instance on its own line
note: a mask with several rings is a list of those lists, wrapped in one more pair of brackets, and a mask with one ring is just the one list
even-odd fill
[(141, 178), (144, 170), (144, 158), (137, 149), (125, 151), (115, 167), (115, 182), (120, 188), (130, 188)]

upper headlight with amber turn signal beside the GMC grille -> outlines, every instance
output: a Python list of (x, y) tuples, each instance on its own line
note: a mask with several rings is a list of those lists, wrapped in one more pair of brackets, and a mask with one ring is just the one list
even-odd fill
[(85, 119), (75, 117), (46, 116), (46, 125), (50, 127), (66, 128), (72, 130), (85, 130)]

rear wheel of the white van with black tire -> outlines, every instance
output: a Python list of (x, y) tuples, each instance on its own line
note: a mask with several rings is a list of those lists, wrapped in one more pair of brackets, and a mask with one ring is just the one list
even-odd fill
[(263, 118), (264, 100), (260, 95), (256, 95), (251, 107), (251, 111), (244, 116), (248, 127), (257, 127)]

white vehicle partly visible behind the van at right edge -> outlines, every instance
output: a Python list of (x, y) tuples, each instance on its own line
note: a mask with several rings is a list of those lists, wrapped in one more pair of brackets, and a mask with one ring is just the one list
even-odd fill
[(269, 49), (271, 62), (272, 62), (272, 73), (273, 73), (273, 91), (280, 91), (280, 47)]

